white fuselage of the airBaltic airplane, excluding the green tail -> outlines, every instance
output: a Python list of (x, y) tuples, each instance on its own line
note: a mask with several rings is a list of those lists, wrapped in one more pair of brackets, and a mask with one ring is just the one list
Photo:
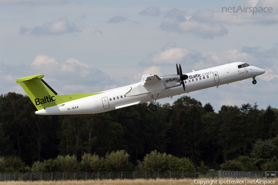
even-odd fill
[[(253, 78), (265, 71), (255, 66), (244, 66), (243, 62), (234, 62), (213, 68), (185, 73), (188, 78), (183, 80), (185, 91), (180, 84), (179, 76), (168, 75), (151, 84), (144, 84), (143, 79), (132, 85), (100, 92), (99, 94), (68, 101), (60, 105), (36, 111), (40, 115), (58, 114), (92, 114), (115, 110), (131, 105), (172, 97), (204, 88), (229, 84), (231, 82)], [(240, 65), (243, 65), (242, 67)], [(248, 64), (247, 64), (248, 65)], [(253, 78), (255, 81), (255, 79)], [(171, 86), (169, 86), (171, 84)], [(55, 100), (55, 97), (49, 99)]]

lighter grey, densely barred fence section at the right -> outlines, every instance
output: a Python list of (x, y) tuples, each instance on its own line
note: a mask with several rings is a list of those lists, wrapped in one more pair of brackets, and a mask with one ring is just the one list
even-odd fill
[(263, 178), (261, 171), (218, 171), (219, 178)]

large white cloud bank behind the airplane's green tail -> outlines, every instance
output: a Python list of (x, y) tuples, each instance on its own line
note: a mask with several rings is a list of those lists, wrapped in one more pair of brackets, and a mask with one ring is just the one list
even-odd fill
[(40, 54), (30, 66), (1, 63), (1, 91), (18, 92), (15, 80), (36, 74), (43, 74), (44, 80), (60, 94), (99, 92), (107, 87), (119, 87), (119, 82), (86, 62), (68, 58), (59, 63), (56, 58)]

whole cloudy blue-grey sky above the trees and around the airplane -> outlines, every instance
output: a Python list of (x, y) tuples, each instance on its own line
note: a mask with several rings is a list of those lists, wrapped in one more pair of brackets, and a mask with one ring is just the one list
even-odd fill
[(278, 108), (277, 9), (278, 1), (1, 0), (0, 93), (25, 95), (15, 80), (36, 74), (58, 94), (78, 94), (176, 74), (176, 63), (187, 73), (241, 61), (266, 71), (257, 84), (250, 78), (158, 102), (186, 95), (215, 112), (256, 102)]

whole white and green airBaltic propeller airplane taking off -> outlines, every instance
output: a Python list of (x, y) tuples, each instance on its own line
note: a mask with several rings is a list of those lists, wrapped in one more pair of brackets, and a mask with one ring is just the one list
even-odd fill
[(177, 74), (167, 76), (143, 75), (140, 82), (111, 90), (87, 93), (58, 95), (42, 78), (33, 75), (16, 80), (20, 83), (40, 115), (58, 114), (94, 114), (120, 109), (150, 101), (149, 109), (155, 111), (157, 99), (173, 97), (204, 88), (229, 84), (235, 81), (253, 78), (265, 73), (265, 70), (234, 62), (213, 68), (183, 74), (181, 66), (176, 64)]

